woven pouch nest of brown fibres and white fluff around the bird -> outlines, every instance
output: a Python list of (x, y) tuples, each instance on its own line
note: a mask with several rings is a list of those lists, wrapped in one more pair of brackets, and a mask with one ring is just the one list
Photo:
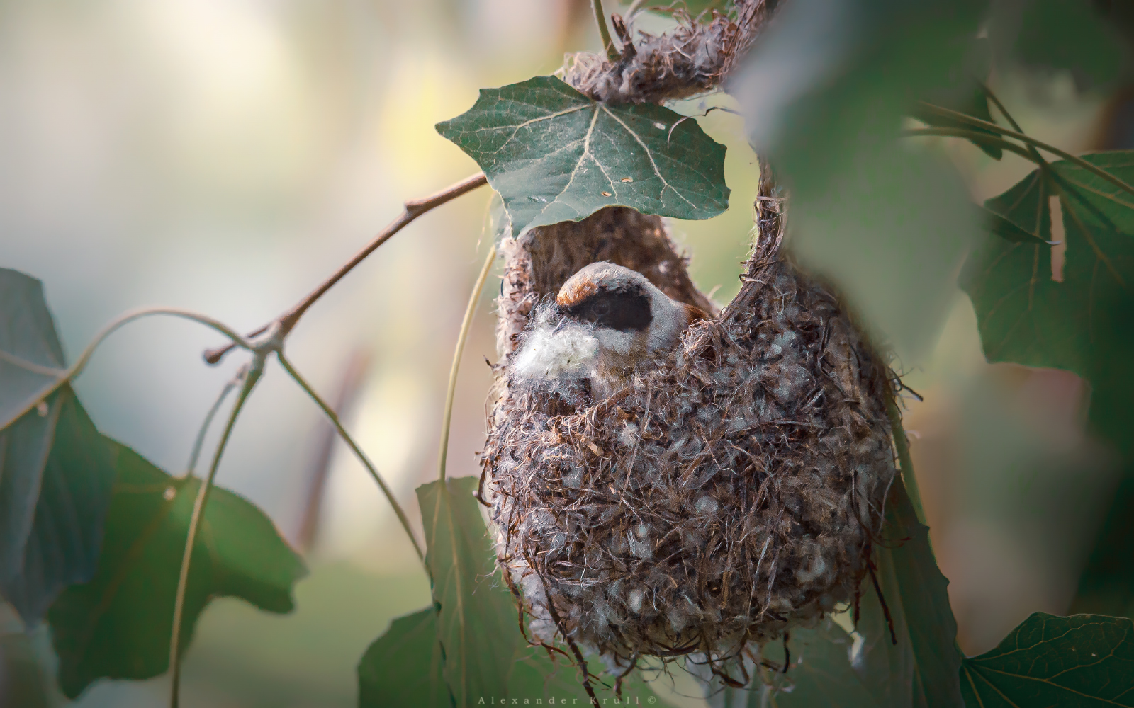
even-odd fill
[(890, 373), (779, 254), (777, 201), (760, 224), (736, 299), (602, 401), (509, 379), (508, 357), (533, 305), (595, 261), (712, 313), (661, 220), (612, 207), (503, 241), (482, 494), (538, 641), (616, 673), (694, 652), (717, 671), (856, 600), (895, 476)]

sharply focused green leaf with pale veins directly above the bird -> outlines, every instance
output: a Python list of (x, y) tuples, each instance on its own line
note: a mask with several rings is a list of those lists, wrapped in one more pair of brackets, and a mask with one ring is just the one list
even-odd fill
[(482, 88), (437, 130), (484, 170), (513, 234), (604, 206), (677, 219), (728, 208), (725, 147), (695, 119), (651, 103), (600, 103), (552, 76)]

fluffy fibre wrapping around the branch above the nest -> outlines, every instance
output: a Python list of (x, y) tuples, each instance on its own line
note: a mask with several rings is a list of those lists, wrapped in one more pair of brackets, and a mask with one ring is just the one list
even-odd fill
[(621, 40), (616, 61), (591, 52), (567, 56), (564, 80), (579, 93), (612, 103), (661, 103), (688, 99), (719, 86), (755, 41), (775, 0), (736, 0), (728, 15), (717, 10), (694, 18), (674, 9), (678, 27), (661, 35), (633, 29), (613, 16)]

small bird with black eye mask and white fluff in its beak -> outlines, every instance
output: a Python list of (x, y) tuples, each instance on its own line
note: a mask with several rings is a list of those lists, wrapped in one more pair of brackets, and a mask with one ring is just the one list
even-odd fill
[(572, 275), (536, 308), (510, 368), (522, 382), (565, 389), (586, 379), (595, 401), (629, 385), (635, 369), (671, 350), (700, 308), (678, 302), (637, 271), (609, 261)]

